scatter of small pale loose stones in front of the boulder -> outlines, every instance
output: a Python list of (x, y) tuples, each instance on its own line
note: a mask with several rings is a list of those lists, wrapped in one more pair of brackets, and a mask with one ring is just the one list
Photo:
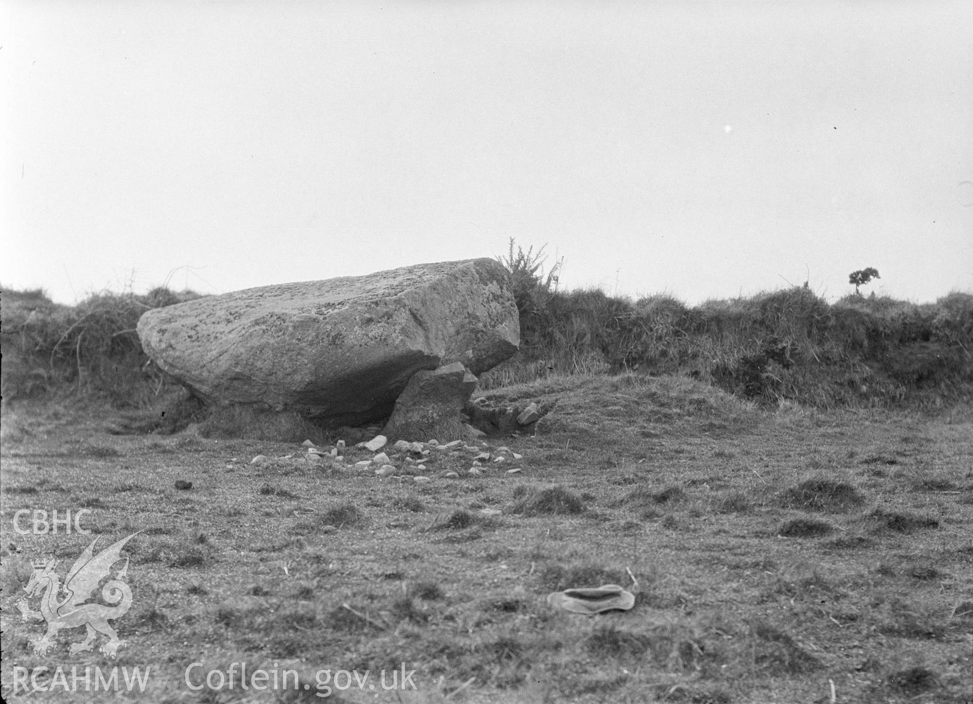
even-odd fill
[[(355, 463), (350, 463), (350, 460), (345, 459), (345, 454), (349, 448), (344, 440), (338, 440), (334, 447), (329, 448), (321, 448), (310, 440), (305, 440), (304, 447), (306, 448), (306, 456), (304, 457), (306, 462), (330, 461), (333, 465), (343, 465), (361, 472), (371, 471), (378, 477), (391, 477), (399, 481), (410, 480), (417, 484), (424, 484), (433, 480), (434, 477), (430, 476), (431, 465), (441, 458), (459, 460), (460, 464), (468, 463), (469, 468), (465, 469), (464, 473), (470, 476), (483, 476), (490, 472), (497, 473), (497, 470), (504, 470), (506, 474), (517, 474), (523, 471), (523, 467), (518, 465), (523, 459), (523, 455), (513, 452), (508, 447), (491, 448), (486, 442), (477, 445), (462, 440), (440, 443), (438, 440), (430, 439), (426, 442), (398, 440), (389, 445), (384, 435), (377, 435), (368, 442), (359, 442), (350, 448), (351, 451), (356, 453), (364, 451), (372, 455), (371, 458)], [(461, 462), (464, 459), (468, 462)], [(275, 460), (300, 461), (300, 456), (290, 454), (275, 458)], [(251, 464), (269, 462), (271, 462), (271, 459), (266, 455), (258, 455), (250, 461)], [(455, 464), (455, 462), (452, 464)], [(436, 476), (444, 479), (458, 479), (460, 472), (444, 470)]]

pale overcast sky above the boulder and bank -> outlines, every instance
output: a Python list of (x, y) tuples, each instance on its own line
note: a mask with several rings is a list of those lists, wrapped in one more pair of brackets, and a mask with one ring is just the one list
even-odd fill
[(973, 3), (0, 5), (0, 283), (973, 290)]

